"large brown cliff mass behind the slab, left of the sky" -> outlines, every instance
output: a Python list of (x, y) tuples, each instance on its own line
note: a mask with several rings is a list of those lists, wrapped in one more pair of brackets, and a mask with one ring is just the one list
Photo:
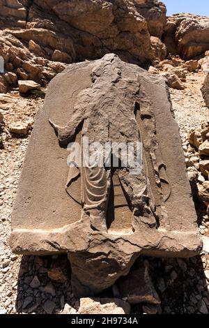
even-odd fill
[(148, 66), (150, 33), (161, 38), (166, 10), (156, 0), (143, 2), (1, 0), (0, 55), (18, 79), (45, 84), (54, 77), (53, 61), (69, 64), (116, 52)]

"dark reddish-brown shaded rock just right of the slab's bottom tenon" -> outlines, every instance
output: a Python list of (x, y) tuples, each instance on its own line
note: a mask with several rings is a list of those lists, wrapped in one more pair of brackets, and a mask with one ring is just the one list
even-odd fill
[(130, 271), (127, 276), (119, 279), (118, 285), (121, 297), (125, 297), (130, 304), (160, 304), (146, 266)]

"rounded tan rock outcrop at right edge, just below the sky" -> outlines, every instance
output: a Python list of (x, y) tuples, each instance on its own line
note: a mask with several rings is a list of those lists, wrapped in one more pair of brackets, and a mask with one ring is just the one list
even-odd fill
[(168, 53), (193, 59), (209, 50), (209, 18), (176, 14), (167, 18), (164, 43)]

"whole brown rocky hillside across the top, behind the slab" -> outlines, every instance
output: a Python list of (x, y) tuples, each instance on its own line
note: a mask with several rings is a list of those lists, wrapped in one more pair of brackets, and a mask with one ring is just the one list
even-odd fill
[(166, 17), (157, 0), (0, 0), (0, 91), (17, 80), (47, 84), (66, 66), (115, 52), (143, 67), (169, 54), (193, 59), (209, 50), (209, 19)]

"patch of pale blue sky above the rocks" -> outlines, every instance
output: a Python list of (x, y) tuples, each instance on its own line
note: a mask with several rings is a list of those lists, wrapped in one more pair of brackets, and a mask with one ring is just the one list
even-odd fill
[(209, 16), (208, 0), (161, 0), (167, 6), (167, 15), (190, 13)]

